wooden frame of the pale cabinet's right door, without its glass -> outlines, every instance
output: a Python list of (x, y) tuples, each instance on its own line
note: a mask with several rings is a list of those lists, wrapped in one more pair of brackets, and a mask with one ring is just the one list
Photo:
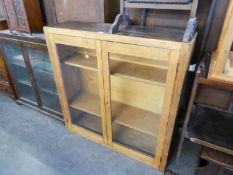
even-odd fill
[[(161, 157), (163, 155), (163, 144), (166, 137), (166, 130), (167, 130), (167, 123), (170, 116), (170, 105), (172, 102), (172, 94), (173, 89), (175, 86), (175, 79), (176, 79), (176, 73), (178, 68), (178, 61), (179, 61), (179, 50), (168, 50), (168, 49), (160, 49), (160, 48), (153, 48), (153, 47), (147, 47), (147, 46), (135, 46), (138, 48), (147, 48), (147, 49), (154, 49), (158, 50), (158, 52), (169, 52), (168, 53), (168, 59), (169, 62), (168, 66), (168, 72), (167, 72), (167, 80), (166, 80), (166, 86), (165, 86), (165, 96), (164, 96), (164, 102), (162, 105), (162, 113), (160, 115), (160, 127), (159, 127), (159, 133), (157, 138), (157, 144), (155, 149), (155, 157), (152, 158), (150, 156), (147, 156), (143, 153), (140, 153), (138, 151), (134, 151), (132, 149), (129, 149), (125, 146), (121, 146), (120, 144), (113, 143), (112, 139), (112, 117), (111, 117), (111, 83), (110, 83), (110, 69), (109, 69), (109, 52), (111, 52), (111, 44), (118, 44), (120, 45), (116, 50), (122, 50), (121, 43), (111, 43), (107, 41), (102, 42), (102, 59), (104, 62), (104, 69), (103, 69), (103, 75), (104, 75), (104, 88), (105, 88), (105, 106), (106, 106), (106, 119), (107, 119), (107, 132), (108, 132), (108, 145), (110, 147), (113, 147), (113, 149), (122, 152), (128, 156), (131, 156), (133, 158), (136, 158), (146, 164), (153, 165), (156, 168), (159, 168)], [(127, 44), (124, 44), (127, 45)], [(130, 44), (128, 44), (131, 46)], [(110, 49), (109, 49), (110, 48)], [(122, 51), (123, 53), (124, 51)], [(154, 52), (152, 52), (154, 53)], [(134, 54), (132, 54), (134, 55)], [(135, 55), (137, 56), (137, 55)], [(161, 59), (158, 59), (161, 60)], [(166, 61), (166, 59), (164, 59)]]

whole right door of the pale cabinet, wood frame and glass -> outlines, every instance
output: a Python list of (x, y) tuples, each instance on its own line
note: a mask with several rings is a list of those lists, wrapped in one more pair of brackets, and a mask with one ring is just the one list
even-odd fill
[(103, 42), (102, 55), (109, 144), (158, 164), (178, 56), (165, 49), (111, 42)]

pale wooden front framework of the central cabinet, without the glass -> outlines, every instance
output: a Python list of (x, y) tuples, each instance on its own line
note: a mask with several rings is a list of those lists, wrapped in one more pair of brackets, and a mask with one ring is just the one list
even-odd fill
[[(112, 35), (93, 30), (74, 30), (74, 27), (66, 28), (64, 26), (63, 28), (45, 27), (44, 31), (67, 128), (70, 131), (77, 132), (91, 140), (104, 144), (109, 148), (164, 171), (179, 107), (181, 87), (188, 69), (196, 37), (194, 37), (191, 42), (182, 43), (155, 38), (149, 39), (143, 37)], [(64, 75), (61, 70), (60, 58), (56, 47), (57, 44), (97, 49), (101, 111), (103, 119), (102, 138), (96, 137), (95, 134), (83, 130), (82, 128), (74, 127), (71, 122), (69, 102), (65, 90), (67, 85), (64, 84)], [(148, 50), (150, 50), (150, 52), (148, 52)], [(108, 62), (110, 52), (130, 56), (137, 55), (147, 58), (155, 58), (155, 55), (157, 54), (163, 56), (163, 59), (166, 58), (165, 60), (169, 62), (168, 74), (165, 82), (166, 95), (164, 96), (158, 131), (158, 143), (156, 148), (154, 148), (156, 150), (155, 157), (121, 146), (118, 143), (114, 143), (112, 140), (111, 109), (113, 104), (111, 102), (110, 64)]]

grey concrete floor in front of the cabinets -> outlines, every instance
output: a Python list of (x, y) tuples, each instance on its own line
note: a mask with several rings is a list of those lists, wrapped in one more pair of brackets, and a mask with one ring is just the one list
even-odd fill
[[(199, 147), (187, 142), (168, 169), (192, 175)], [(70, 133), (64, 125), (0, 93), (0, 175), (162, 175), (109, 148)]]

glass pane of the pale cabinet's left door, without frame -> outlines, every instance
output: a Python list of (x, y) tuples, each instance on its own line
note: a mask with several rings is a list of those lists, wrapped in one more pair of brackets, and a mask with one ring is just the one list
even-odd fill
[(57, 45), (73, 125), (102, 135), (96, 50)]

